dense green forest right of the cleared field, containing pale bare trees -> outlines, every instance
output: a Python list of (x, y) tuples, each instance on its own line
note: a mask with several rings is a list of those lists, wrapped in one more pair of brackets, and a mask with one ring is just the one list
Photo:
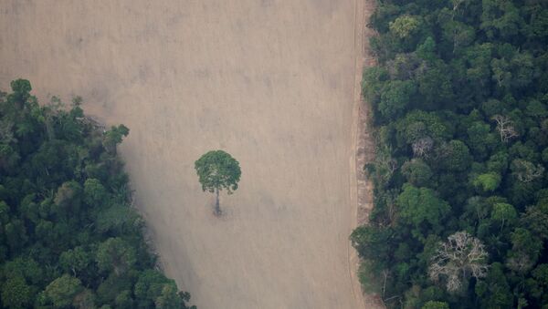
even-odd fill
[(364, 290), (389, 308), (548, 308), (548, 2), (376, 3)]

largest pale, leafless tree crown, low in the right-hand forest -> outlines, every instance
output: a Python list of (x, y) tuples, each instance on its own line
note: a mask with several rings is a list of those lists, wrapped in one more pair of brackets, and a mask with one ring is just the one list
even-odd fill
[(449, 293), (460, 291), (470, 277), (487, 275), (487, 257), (483, 243), (468, 232), (456, 232), (448, 242), (440, 242), (431, 260), (428, 274), (434, 282), (443, 277)]

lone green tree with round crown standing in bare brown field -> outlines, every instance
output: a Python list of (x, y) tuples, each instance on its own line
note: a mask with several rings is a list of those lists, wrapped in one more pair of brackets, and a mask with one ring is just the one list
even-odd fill
[(223, 150), (211, 150), (195, 161), (195, 170), (203, 191), (215, 192), (215, 213), (219, 215), (219, 191), (226, 189), (228, 194), (237, 190), (237, 182), (242, 171), (237, 160)]

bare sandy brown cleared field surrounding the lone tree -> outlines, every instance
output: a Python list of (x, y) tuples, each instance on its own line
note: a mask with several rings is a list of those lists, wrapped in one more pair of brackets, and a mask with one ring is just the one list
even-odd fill
[[(194, 304), (361, 308), (356, 1), (0, 0), (0, 88), (25, 77), (131, 129), (137, 205)], [(193, 168), (209, 149), (242, 167), (222, 218)]]

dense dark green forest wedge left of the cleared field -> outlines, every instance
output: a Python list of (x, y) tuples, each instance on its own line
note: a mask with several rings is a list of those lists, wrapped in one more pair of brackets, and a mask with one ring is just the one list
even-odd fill
[[(27, 80), (0, 93), (0, 304), (191, 308), (157, 267), (116, 149), (81, 98), (39, 105)], [(192, 307), (194, 308), (194, 306)]]

